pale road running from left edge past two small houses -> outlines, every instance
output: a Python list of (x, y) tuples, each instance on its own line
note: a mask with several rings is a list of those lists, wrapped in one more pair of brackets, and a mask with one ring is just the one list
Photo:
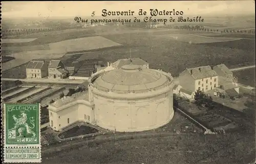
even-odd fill
[(16, 81), (20, 80), (27, 83), (56, 83), (56, 84), (82, 84), (86, 80), (73, 80), (73, 79), (50, 79), (50, 78), (38, 78), (38, 79), (26, 79), (26, 78), (2, 78), (2, 80)]

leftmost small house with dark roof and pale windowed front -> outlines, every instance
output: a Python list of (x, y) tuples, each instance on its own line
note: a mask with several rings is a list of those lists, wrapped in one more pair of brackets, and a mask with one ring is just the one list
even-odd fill
[(26, 67), (27, 78), (43, 78), (48, 75), (45, 61), (30, 61)]

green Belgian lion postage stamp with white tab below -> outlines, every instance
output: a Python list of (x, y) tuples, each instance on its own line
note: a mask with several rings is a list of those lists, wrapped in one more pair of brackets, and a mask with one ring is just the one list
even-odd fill
[(4, 104), (2, 113), (4, 162), (41, 162), (40, 104)]

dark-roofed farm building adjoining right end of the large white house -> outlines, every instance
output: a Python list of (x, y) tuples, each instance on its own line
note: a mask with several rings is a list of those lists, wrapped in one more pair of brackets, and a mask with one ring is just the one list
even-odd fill
[(233, 76), (233, 72), (230, 71), (226, 65), (220, 64), (214, 66), (215, 72), (219, 76), (219, 85), (224, 85), (226, 83), (238, 83), (237, 77)]

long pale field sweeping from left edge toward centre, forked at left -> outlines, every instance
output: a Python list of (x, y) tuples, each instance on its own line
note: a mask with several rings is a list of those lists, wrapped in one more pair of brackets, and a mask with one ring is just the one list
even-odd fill
[[(115, 43), (103, 37), (88, 37), (73, 40), (66, 40), (49, 45), (36, 45), (36, 46), (15, 46), (3, 47), (6, 51), (20, 52), (12, 53), (9, 57), (15, 58), (14, 60), (3, 63), (2, 70), (25, 64), (32, 59), (57, 59), (65, 55), (69, 51), (91, 50), (98, 48), (105, 48), (111, 46), (120, 46), (121, 44)], [(30, 48), (29, 48), (30, 47)], [(28, 48), (28, 49), (27, 49)]]

